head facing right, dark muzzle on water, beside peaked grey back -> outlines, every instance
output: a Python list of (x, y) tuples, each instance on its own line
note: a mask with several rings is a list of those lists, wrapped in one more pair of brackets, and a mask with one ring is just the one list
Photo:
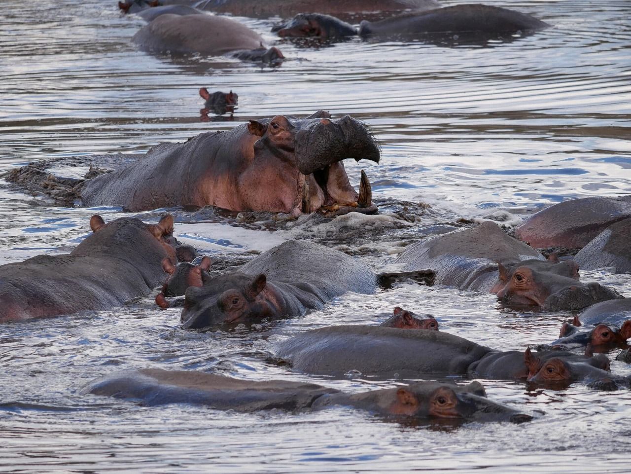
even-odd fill
[(581, 309), (595, 303), (622, 298), (612, 288), (578, 281), (573, 261), (526, 260), (499, 264), (499, 280), (492, 293), (509, 304), (537, 306), (548, 311)]

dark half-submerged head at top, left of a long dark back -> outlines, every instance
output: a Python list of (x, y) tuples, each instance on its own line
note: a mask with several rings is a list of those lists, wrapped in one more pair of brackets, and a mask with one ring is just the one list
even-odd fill
[(321, 13), (299, 13), (291, 20), (276, 25), (272, 31), (281, 38), (341, 38), (357, 35), (357, 30), (334, 16)]

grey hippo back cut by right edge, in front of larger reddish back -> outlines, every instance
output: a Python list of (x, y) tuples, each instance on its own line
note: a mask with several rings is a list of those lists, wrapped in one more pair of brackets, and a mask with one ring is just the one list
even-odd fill
[(583, 270), (610, 267), (615, 273), (631, 273), (631, 218), (611, 224), (574, 259)]

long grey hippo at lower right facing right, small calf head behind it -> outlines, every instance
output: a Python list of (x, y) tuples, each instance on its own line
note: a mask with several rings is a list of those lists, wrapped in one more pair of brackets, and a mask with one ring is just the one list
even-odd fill
[(382, 326), (312, 329), (276, 344), (274, 353), (295, 370), (327, 376), (356, 370), (363, 376), (387, 378), (446, 373), (531, 381), (554, 358), (562, 361), (568, 383), (611, 377), (609, 360), (603, 354), (586, 357), (561, 350), (532, 353), (530, 349), (500, 352), (439, 331)]

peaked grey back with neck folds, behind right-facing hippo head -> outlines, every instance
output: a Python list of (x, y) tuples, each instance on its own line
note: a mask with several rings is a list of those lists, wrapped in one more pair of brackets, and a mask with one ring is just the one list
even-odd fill
[(396, 262), (405, 264), (406, 270), (434, 270), (435, 285), (488, 291), (497, 281), (497, 262), (530, 259), (544, 260), (539, 252), (509, 237), (497, 224), (484, 222), (420, 240), (405, 249)]

